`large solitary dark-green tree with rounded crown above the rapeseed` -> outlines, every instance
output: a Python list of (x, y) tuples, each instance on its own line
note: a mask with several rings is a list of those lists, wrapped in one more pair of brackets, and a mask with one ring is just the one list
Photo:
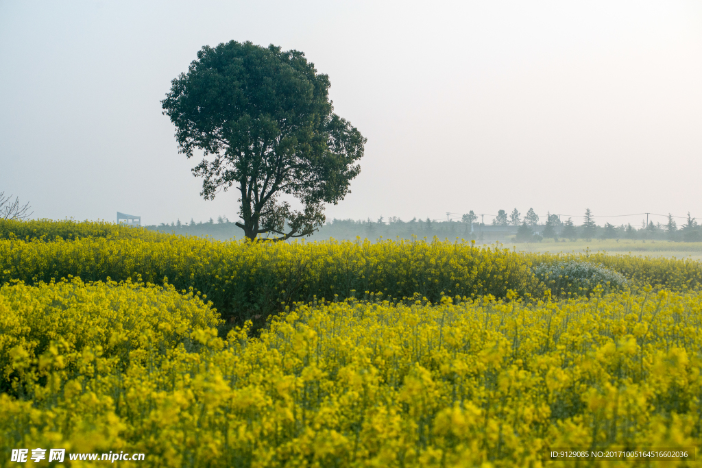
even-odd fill
[[(251, 240), (307, 236), (360, 172), (366, 139), (333, 113), (329, 76), (299, 51), (230, 41), (197, 53), (161, 101), (179, 151), (195, 150), (201, 195), (239, 191), (237, 226)], [(293, 210), (281, 196), (293, 196)]]

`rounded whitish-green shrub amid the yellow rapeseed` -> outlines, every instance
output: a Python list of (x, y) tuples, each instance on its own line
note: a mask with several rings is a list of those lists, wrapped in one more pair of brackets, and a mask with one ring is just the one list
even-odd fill
[(627, 284), (623, 274), (582, 260), (542, 264), (534, 272), (554, 295), (590, 295), (597, 286), (604, 292), (617, 291)]

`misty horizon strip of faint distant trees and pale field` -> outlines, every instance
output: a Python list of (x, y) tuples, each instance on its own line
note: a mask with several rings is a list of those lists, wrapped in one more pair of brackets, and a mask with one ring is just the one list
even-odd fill
[[(512, 213), (514, 214), (514, 212)], [(597, 225), (592, 219), (588, 227), (585, 222), (568, 226), (557, 215), (545, 217), (528, 224), (517, 219), (508, 224), (490, 224), (472, 222), (470, 215), (464, 220), (431, 220), (430, 218), (412, 218), (403, 221), (397, 216), (378, 218), (378, 220), (338, 220), (326, 222), (312, 236), (304, 236), (307, 241), (370, 241), (376, 243), (383, 239), (391, 241), (439, 241), (474, 242), (476, 245), (495, 244), (527, 252), (564, 252), (588, 253), (608, 252), (617, 254), (652, 255), (668, 258), (690, 258), (702, 260), (702, 226), (694, 219), (688, 218), (678, 222), (672, 215), (665, 225), (649, 220), (639, 227), (626, 225)], [(506, 219), (506, 218), (505, 218)], [(243, 231), (226, 217), (218, 216), (202, 222), (163, 223), (146, 227), (152, 231), (199, 236), (220, 241), (241, 239)]]

